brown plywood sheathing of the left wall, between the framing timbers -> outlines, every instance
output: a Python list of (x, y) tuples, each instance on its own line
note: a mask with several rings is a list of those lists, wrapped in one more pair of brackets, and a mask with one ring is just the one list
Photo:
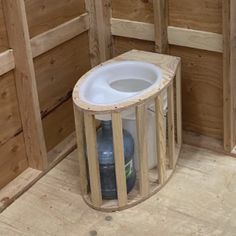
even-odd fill
[[(86, 12), (84, 0), (25, 0), (24, 3), (30, 39)], [(8, 41), (0, 1), (0, 53), (10, 49)], [(34, 57), (33, 66), (46, 149), (50, 153), (75, 129), (71, 92), (78, 78), (91, 67), (88, 32)], [(0, 76), (0, 189), (29, 167), (15, 80), (14, 69)]]

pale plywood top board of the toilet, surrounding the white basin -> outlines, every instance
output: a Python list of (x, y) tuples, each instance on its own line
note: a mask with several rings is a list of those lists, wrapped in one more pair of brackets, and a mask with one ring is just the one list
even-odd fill
[[(94, 70), (107, 65), (112, 62), (117, 61), (143, 61), (147, 63), (151, 63), (160, 68), (162, 72), (162, 81), (160, 84), (153, 85), (152, 88), (143, 91), (140, 96), (134, 96), (133, 98), (127, 99), (119, 104), (113, 104), (108, 106), (96, 106), (91, 103), (87, 103), (80, 96), (80, 87), (87, 79), (87, 77), (92, 73)], [(162, 55), (157, 53), (150, 53), (145, 51), (138, 51), (132, 50), (127, 53), (124, 53), (112, 60), (109, 60), (105, 63), (98, 65), (97, 67), (93, 68), (89, 72), (87, 72), (84, 76), (80, 78), (80, 80), (75, 85), (75, 89), (73, 91), (73, 101), (78, 106), (78, 108), (94, 113), (107, 113), (110, 111), (121, 111), (130, 108), (131, 106), (138, 105), (147, 101), (148, 99), (154, 98), (154, 96), (158, 95), (169, 83), (174, 79), (177, 66), (180, 62), (180, 58)]]

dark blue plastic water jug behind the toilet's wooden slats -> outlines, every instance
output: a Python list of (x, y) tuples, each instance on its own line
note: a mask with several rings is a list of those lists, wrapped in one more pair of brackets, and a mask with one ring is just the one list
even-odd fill
[[(123, 129), (123, 143), (127, 193), (129, 193), (135, 185), (136, 171), (134, 168), (134, 140), (131, 134), (125, 129)], [(102, 198), (117, 199), (111, 121), (101, 122), (101, 127), (97, 131), (97, 149)]]

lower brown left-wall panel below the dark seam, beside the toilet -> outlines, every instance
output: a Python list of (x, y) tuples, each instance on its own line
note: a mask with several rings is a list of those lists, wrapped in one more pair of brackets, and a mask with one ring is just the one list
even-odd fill
[(47, 150), (51, 150), (75, 130), (72, 100), (68, 99), (43, 119)]

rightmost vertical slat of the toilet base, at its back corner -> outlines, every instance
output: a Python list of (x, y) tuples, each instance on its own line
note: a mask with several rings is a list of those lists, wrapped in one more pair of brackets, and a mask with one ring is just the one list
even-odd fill
[(181, 99), (181, 63), (176, 72), (176, 125), (177, 144), (182, 145), (182, 99)]

